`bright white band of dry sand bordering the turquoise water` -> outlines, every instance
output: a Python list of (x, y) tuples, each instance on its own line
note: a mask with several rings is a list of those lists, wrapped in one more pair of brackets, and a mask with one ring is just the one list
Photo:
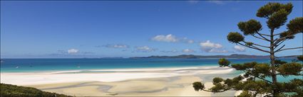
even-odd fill
[[(159, 69), (104, 69), (63, 72), (1, 72), (1, 83), (16, 85), (56, 84), (73, 81), (125, 81), (129, 79), (159, 78), (195, 74), (225, 74), (234, 71), (227, 67), (183, 67)], [(95, 77), (99, 76), (99, 77)], [(72, 81), (68, 80), (71, 79)]]

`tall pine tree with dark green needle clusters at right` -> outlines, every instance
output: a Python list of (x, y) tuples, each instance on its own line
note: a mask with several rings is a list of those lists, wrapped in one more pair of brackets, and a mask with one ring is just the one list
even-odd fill
[[(298, 60), (284, 62), (275, 54), (284, 50), (302, 49), (303, 47), (284, 48), (282, 43), (286, 40), (294, 39), (294, 35), (303, 33), (303, 17), (294, 18), (287, 24), (287, 30), (275, 33), (274, 30), (280, 28), (287, 22), (287, 16), (292, 12), (292, 4), (268, 3), (257, 11), (257, 17), (267, 19), (269, 34), (260, 33), (262, 25), (259, 21), (251, 19), (241, 21), (238, 28), (241, 33), (231, 32), (227, 35), (227, 40), (245, 47), (259, 50), (269, 54), (270, 63), (247, 62), (244, 64), (230, 64), (227, 59), (220, 59), (220, 67), (231, 67), (236, 70), (245, 72), (244, 75), (237, 76), (233, 79), (222, 79), (215, 77), (210, 89), (205, 89), (204, 84), (200, 81), (192, 85), (195, 91), (223, 92), (227, 90), (242, 90), (238, 97), (255, 97), (255, 96), (303, 96), (303, 79), (292, 79), (291, 81), (277, 81), (277, 76), (302, 76), (303, 55), (292, 55), (285, 57), (297, 57)], [(251, 35), (254, 38), (264, 40), (267, 45), (260, 45), (255, 42), (245, 40), (244, 35)], [(259, 43), (259, 42), (258, 42)], [(269, 44), (269, 45), (268, 45)], [(302, 62), (299, 62), (302, 61)], [(269, 79), (268, 79), (269, 78)], [(244, 80), (245, 79), (245, 80)]]

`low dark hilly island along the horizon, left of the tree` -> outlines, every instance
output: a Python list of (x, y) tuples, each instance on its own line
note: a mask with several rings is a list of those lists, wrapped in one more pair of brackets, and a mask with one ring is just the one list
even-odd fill
[(182, 59), (202, 59), (202, 58), (237, 58), (237, 59), (245, 59), (245, 58), (254, 58), (254, 59), (262, 59), (269, 58), (268, 55), (177, 55), (177, 56), (150, 56), (150, 57), (130, 57), (130, 58), (182, 58)]

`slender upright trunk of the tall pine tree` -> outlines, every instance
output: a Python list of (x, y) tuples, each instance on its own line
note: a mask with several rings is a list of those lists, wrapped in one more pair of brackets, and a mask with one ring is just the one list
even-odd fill
[[(276, 66), (274, 65), (274, 29), (270, 30), (270, 64), (272, 66), (272, 83), (277, 83)], [(277, 89), (274, 86), (273, 95), (277, 96)]]

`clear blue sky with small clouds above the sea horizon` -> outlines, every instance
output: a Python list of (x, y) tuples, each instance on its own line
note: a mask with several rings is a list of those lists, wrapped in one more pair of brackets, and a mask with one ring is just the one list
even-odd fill
[[(262, 23), (261, 33), (269, 33), (265, 18), (255, 16), (268, 2), (1, 1), (1, 58), (267, 55), (235, 46), (226, 36), (252, 18)], [(294, 5), (289, 20), (302, 16), (302, 1), (279, 2)], [(285, 44), (302, 47), (302, 34)]]

